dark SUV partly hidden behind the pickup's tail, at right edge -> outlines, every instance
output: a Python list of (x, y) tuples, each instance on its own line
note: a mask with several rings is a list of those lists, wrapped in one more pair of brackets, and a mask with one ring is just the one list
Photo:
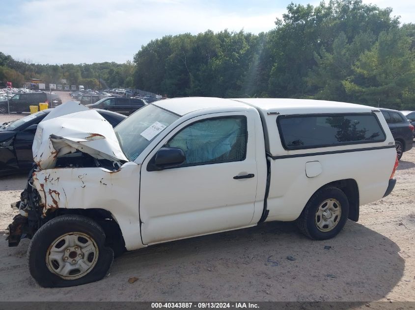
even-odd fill
[(396, 153), (401, 159), (404, 152), (412, 148), (414, 140), (414, 126), (399, 111), (390, 109), (380, 109), (386, 119), (393, 139), (395, 139)]

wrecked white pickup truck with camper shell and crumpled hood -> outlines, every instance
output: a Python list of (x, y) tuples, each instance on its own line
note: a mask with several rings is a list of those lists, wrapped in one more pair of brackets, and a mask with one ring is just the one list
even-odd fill
[(67, 102), (39, 123), (33, 156), (8, 238), (31, 238), (41, 286), (99, 280), (125, 249), (263, 221), (332, 238), (392, 191), (397, 167), (378, 109), (303, 99), (166, 99), (114, 130)]

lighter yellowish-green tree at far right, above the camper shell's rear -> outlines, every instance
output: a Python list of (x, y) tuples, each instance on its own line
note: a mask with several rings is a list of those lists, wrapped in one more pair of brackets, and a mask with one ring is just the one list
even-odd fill
[(354, 102), (395, 109), (415, 108), (415, 52), (397, 28), (381, 32), (373, 48), (363, 52), (353, 75), (343, 81)]

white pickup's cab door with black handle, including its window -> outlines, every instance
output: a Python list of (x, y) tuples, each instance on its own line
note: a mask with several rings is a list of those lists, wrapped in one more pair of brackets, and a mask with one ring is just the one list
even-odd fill
[[(256, 224), (255, 134), (248, 115), (217, 113), (189, 119), (145, 158), (139, 203), (144, 244)], [(155, 165), (162, 147), (181, 149), (186, 160), (175, 167)]]

